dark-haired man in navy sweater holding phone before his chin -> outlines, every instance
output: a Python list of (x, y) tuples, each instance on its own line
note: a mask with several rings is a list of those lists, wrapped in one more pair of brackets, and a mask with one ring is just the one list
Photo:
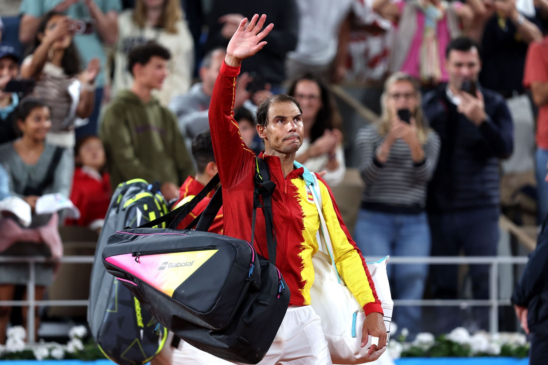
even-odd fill
[[(433, 256), (495, 256), (499, 240), (499, 163), (513, 148), (513, 125), (504, 98), (477, 86), (476, 95), (463, 83), (477, 85), (481, 71), (479, 45), (471, 38), (457, 38), (446, 50), (449, 83), (424, 97), (423, 110), (441, 137), (436, 173), (428, 188), (427, 212)], [(470, 265), (475, 299), (489, 296), (489, 266)], [(455, 299), (457, 268), (434, 265), (433, 296)], [(457, 316), (438, 312), (439, 332), (457, 324)], [(437, 317), (437, 318), (438, 318)], [(479, 325), (487, 327), (486, 309), (478, 309)]]

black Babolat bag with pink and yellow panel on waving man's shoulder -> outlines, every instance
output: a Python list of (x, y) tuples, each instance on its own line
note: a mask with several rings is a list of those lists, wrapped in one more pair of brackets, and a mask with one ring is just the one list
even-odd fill
[[(214, 189), (218, 175), (188, 204), (139, 228), (118, 231), (102, 254), (107, 271), (169, 331), (209, 354), (249, 364), (265, 356), (289, 305), (286, 282), (275, 266), (270, 195), (276, 184), (264, 160), (257, 164), (253, 231), (261, 207), (270, 260), (255, 252), (253, 234), (248, 242), (207, 232), (222, 205), (220, 188), (187, 229), (172, 229)], [(169, 228), (149, 228), (169, 219)], [(195, 230), (188, 229), (194, 224)]]

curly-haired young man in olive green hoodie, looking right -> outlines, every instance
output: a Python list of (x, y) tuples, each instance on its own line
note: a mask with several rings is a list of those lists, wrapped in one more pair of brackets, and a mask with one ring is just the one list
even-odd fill
[(112, 190), (133, 178), (159, 180), (169, 201), (179, 197), (178, 186), (192, 173), (173, 114), (151, 94), (162, 88), (170, 57), (167, 49), (154, 42), (129, 52), (132, 88), (118, 92), (105, 108), (101, 124)]

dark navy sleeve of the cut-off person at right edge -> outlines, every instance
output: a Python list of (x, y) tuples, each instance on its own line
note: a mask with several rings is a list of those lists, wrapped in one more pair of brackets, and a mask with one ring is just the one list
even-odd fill
[(533, 297), (546, 287), (548, 276), (548, 227), (546, 222), (539, 236), (535, 251), (530, 254), (529, 262), (523, 271), (512, 295), (512, 303), (527, 306)]

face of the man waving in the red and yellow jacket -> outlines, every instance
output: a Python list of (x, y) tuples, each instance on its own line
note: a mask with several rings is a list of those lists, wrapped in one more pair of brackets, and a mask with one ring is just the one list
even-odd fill
[(272, 104), (269, 108), (268, 124), (266, 127), (257, 126), (257, 132), (265, 140), (267, 152), (297, 152), (301, 147), (304, 133), (299, 108), (289, 101)]

